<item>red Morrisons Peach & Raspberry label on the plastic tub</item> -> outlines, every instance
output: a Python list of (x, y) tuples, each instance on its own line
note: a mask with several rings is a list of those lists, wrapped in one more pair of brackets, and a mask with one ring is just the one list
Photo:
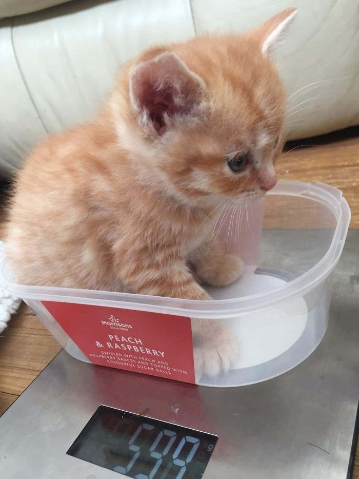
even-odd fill
[(94, 364), (195, 384), (190, 318), (108, 306), (43, 304)]

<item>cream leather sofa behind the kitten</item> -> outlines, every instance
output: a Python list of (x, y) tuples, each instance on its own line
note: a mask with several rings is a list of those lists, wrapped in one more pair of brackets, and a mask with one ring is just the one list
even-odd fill
[(0, 175), (47, 133), (91, 118), (118, 65), (142, 49), (208, 31), (241, 32), (289, 6), (299, 13), (277, 63), (289, 95), (312, 85), (289, 101), (288, 137), (359, 123), (357, 0), (293, 3), (0, 0)]

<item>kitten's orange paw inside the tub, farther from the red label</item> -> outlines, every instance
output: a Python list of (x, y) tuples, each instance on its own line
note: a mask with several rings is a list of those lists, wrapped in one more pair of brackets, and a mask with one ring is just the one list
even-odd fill
[(228, 286), (243, 273), (243, 261), (234, 255), (210, 255), (196, 267), (197, 276), (211, 286)]

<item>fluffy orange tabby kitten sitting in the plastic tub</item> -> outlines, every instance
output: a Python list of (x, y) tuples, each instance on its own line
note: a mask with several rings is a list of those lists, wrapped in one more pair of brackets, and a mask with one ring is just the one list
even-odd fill
[[(242, 262), (208, 248), (215, 208), (275, 184), (285, 95), (267, 57), (293, 15), (146, 51), (94, 123), (38, 146), (10, 210), (18, 280), (198, 300), (210, 299), (200, 282), (233, 282)], [(250, 154), (237, 174), (236, 152)], [(236, 346), (222, 322), (203, 321), (192, 321), (196, 365), (215, 374)]]

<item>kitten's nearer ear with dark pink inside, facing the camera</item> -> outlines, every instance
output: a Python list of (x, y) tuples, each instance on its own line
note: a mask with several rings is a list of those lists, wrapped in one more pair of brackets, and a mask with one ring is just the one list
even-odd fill
[(176, 120), (191, 121), (204, 98), (205, 83), (173, 52), (137, 65), (130, 76), (132, 106), (144, 129), (163, 135)]

